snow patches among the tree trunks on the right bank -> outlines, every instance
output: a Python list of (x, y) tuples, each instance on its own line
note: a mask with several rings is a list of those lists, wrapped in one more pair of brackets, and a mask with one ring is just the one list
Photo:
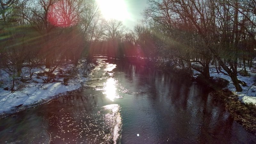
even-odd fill
[[(211, 66), (211, 65), (210, 65)], [(237, 68), (237, 71), (242, 70), (243, 68)], [(238, 80), (244, 81), (247, 86), (242, 86), (243, 91), (242, 92), (236, 92), (236, 88), (231, 80), (231, 78), (229, 76), (226, 76), (222, 73), (216, 73), (216, 69), (214, 66), (210, 67), (210, 76), (213, 77), (220, 77), (223, 79), (226, 79), (229, 81), (228, 84), (228, 89), (230, 91), (232, 91), (233, 93), (237, 94), (239, 99), (242, 100), (244, 103), (253, 103), (256, 105), (256, 86), (255, 84), (255, 72), (254, 72), (254, 68), (251, 68), (251, 70), (249, 69), (249, 67), (246, 67), (246, 70), (248, 72), (248, 74), (250, 74), (250, 76), (241, 76), (238, 73)], [(221, 69), (221, 71), (224, 71), (223, 69)]]

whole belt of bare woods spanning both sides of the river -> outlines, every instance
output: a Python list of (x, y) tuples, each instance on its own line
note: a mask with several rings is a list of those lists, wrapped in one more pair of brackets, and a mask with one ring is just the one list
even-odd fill
[[(0, 0), (0, 69), (19, 78), (22, 67), (45, 66), (108, 54), (142, 57), (192, 69), (210, 78), (209, 65), (242, 81), (256, 50), (255, 0), (148, 0), (133, 30), (104, 20), (94, 0)], [(221, 68), (224, 70), (222, 71)], [(240, 83), (240, 84), (239, 84)], [(13, 84), (14, 86), (14, 84)], [(12, 87), (14, 89), (14, 87)]]

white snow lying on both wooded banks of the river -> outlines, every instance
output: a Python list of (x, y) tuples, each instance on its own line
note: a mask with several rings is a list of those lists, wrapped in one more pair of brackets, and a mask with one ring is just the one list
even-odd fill
[[(20, 104), (23, 104), (23, 106), (31, 105), (40, 103), (42, 100), (45, 99), (51, 99), (55, 95), (76, 90), (80, 88), (82, 85), (84, 85), (88, 80), (93, 79), (92, 73), (94, 71), (97, 71), (104, 65), (101, 61), (104, 59), (97, 59), (99, 62), (99, 65), (96, 66), (90, 74), (88, 74), (88, 77), (83, 77), (83, 70), (82, 68), (77, 68), (78, 71), (76, 76), (74, 78), (71, 78), (68, 80), (68, 85), (62, 84), (61, 81), (63, 81), (63, 78), (55, 78), (55, 80), (58, 80), (60, 82), (53, 82), (53, 83), (46, 83), (44, 84), (44, 79), (47, 79), (46, 76), (40, 76), (37, 77), (36, 74), (43, 72), (46, 68), (32, 68), (29, 72), (29, 68), (23, 68), (22, 69), (22, 76), (23, 77), (29, 77), (31, 73), (35, 73), (32, 76), (32, 80), (28, 81), (29, 83), (22, 83), (19, 82), (16, 84), (21, 88), (20, 90), (15, 91), (12, 93), (10, 90), (6, 91), (4, 90), (4, 87), (8, 86), (10, 88), (10, 85), (12, 84), (12, 78), (9, 76), (9, 74), (5, 73), (4, 71), (0, 70), (0, 114), (2, 113), (8, 113), (9, 111), (15, 109), (11, 107), (18, 106)], [(95, 65), (90, 64), (89, 67), (92, 68)], [(114, 68), (116, 68), (115, 64), (108, 64), (106, 65), (104, 71), (110, 72)], [(242, 68), (238, 68), (238, 71)], [(253, 104), (256, 104), (256, 86), (255, 84), (255, 69), (249, 70), (247, 68), (248, 73), (250, 76), (241, 76), (238, 74), (237, 78), (241, 81), (244, 81), (247, 86), (242, 86), (243, 91), (242, 92), (235, 92), (235, 86), (232, 83), (232, 80), (229, 76), (226, 76), (222, 73), (216, 73), (216, 69), (214, 66), (210, 65), (210, 76), (213, 77), (220, 77), (228, 80), (230, 83), (228, 84), (228, 89), (234, 92), (238, 95), (239, 99), (242, 100), (245, 103), (252, 102)], [(61, 74), (62, 72), (66, 71), (74, 71), (74, 68), (72, 65), (66, 65), (65, 67), (59, 67), (57, 68), (53, 73), (54, 74)], [(222, 70), (223, 71), (223, 70)], [(198, 72), (194, 71), (195, 77), (197, 76)], [(68, 73), (65, 73), (65, 75), (69, 75)], [(104, 73), (102, 74), (104, 75)], [(36, 83), (37, 82), (37, 83)]]

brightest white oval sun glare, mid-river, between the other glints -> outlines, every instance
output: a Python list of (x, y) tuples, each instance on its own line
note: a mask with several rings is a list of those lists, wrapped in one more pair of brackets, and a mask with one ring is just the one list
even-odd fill
[(116, 80), (114, 78), (111, 77), (107, 80), (103, 94), (106, 94), (106, 97), (111, 101), (118, 98), (116, 94)]

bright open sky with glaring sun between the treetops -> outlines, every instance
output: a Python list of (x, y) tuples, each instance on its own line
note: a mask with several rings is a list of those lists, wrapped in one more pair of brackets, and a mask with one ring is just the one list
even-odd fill
[(96, 0), (103, 17), (107, 20), (123, 21), (124, 26), (133, 26), (143, 18), (141, 13), (147, 7), (147, 0)]

